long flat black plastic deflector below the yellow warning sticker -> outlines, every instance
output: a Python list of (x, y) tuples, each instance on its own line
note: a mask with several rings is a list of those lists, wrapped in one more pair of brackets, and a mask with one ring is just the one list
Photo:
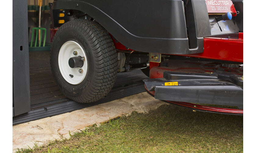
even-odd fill
[(243, 108), (243, 89), (237, 86), (156, 86), (155, 99)]

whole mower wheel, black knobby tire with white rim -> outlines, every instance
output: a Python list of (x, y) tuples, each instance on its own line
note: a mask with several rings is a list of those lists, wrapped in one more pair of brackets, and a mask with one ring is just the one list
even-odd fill
[(68, 98), (89, 103), (105, 97), (117, 76), (117, 54), (108, 32), (97, 22), (63, 24), (51, 44), (52, 74)]

